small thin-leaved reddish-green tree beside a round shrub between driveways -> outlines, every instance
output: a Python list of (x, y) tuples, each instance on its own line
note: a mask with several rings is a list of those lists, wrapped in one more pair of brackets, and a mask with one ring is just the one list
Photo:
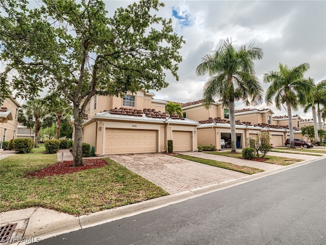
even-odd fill
[[(250, 148), (255, 149), (256, 156), (263, 158), (270, 151), (270, 135), (268, 132), (262, 132), (255, 137), (249, 138)], [(261, 156), (259, 155), (261, 153)]]

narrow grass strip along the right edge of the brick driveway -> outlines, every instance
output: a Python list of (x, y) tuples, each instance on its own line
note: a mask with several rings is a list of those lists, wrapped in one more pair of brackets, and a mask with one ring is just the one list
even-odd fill
[(173, 155), (173, 156), (182, 158), (185, 160), (190, 160), (190, 161), (199, 162), (199, 163), (203, 163), (203, 164), (207, 164), (207, 165), (211, 165), (211, 166), (215, 166), (215, 167), (221, 167), (221, 168), (241, 172), (241, 173), (248, 174), (248, 175), (257, 174), (257, 173), (264, 171), (263, 169), (259, 169), (259, 168), (255, 168), (255, 167), (240, 166), (240, 165), (236, 165), (236, 164), (229, 163), (229, 162), (219, 162), (219, 161), (215, 161), (215, 160), (204, 159), (204, 158), (199, 158), (199, 157), (192, 157), (192, 156), (187, 156), (187, 155)]

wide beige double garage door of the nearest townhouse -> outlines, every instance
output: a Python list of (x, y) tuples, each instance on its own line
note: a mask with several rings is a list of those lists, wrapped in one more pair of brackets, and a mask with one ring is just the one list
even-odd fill
[(105, 129), (105, 154), (155, 153), (156, 130)]

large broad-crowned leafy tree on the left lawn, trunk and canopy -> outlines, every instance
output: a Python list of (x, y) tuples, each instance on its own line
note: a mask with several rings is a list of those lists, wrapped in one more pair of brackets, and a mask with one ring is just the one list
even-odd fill
[[(0, 16), (1, 98), (8, 91), (35, 96), (45, 86), (59, 89), (73, 104), (74, 161), (82, 165), (82, 124), (91, 97), (168, 86), (178, 80), (182, 37), (172, 20), (153, 14), (164, 4), (141, 0), (108, 17), (100, 0), (4, 0)], [(35, 3), (35, 2), (34, 2)]]

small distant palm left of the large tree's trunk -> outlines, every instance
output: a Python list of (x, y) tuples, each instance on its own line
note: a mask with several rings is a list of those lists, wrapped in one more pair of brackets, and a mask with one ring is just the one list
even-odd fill
[(45, 102), (42, 99), (34, 99), (33, 101), (28, 101), (22, 106), (26, 115), (32, 118), (35, 122), (35, 146), (38, 148), (39, 132), (41, 128), (41, 119), (47, 114), (48, 110), (44, 106)]

